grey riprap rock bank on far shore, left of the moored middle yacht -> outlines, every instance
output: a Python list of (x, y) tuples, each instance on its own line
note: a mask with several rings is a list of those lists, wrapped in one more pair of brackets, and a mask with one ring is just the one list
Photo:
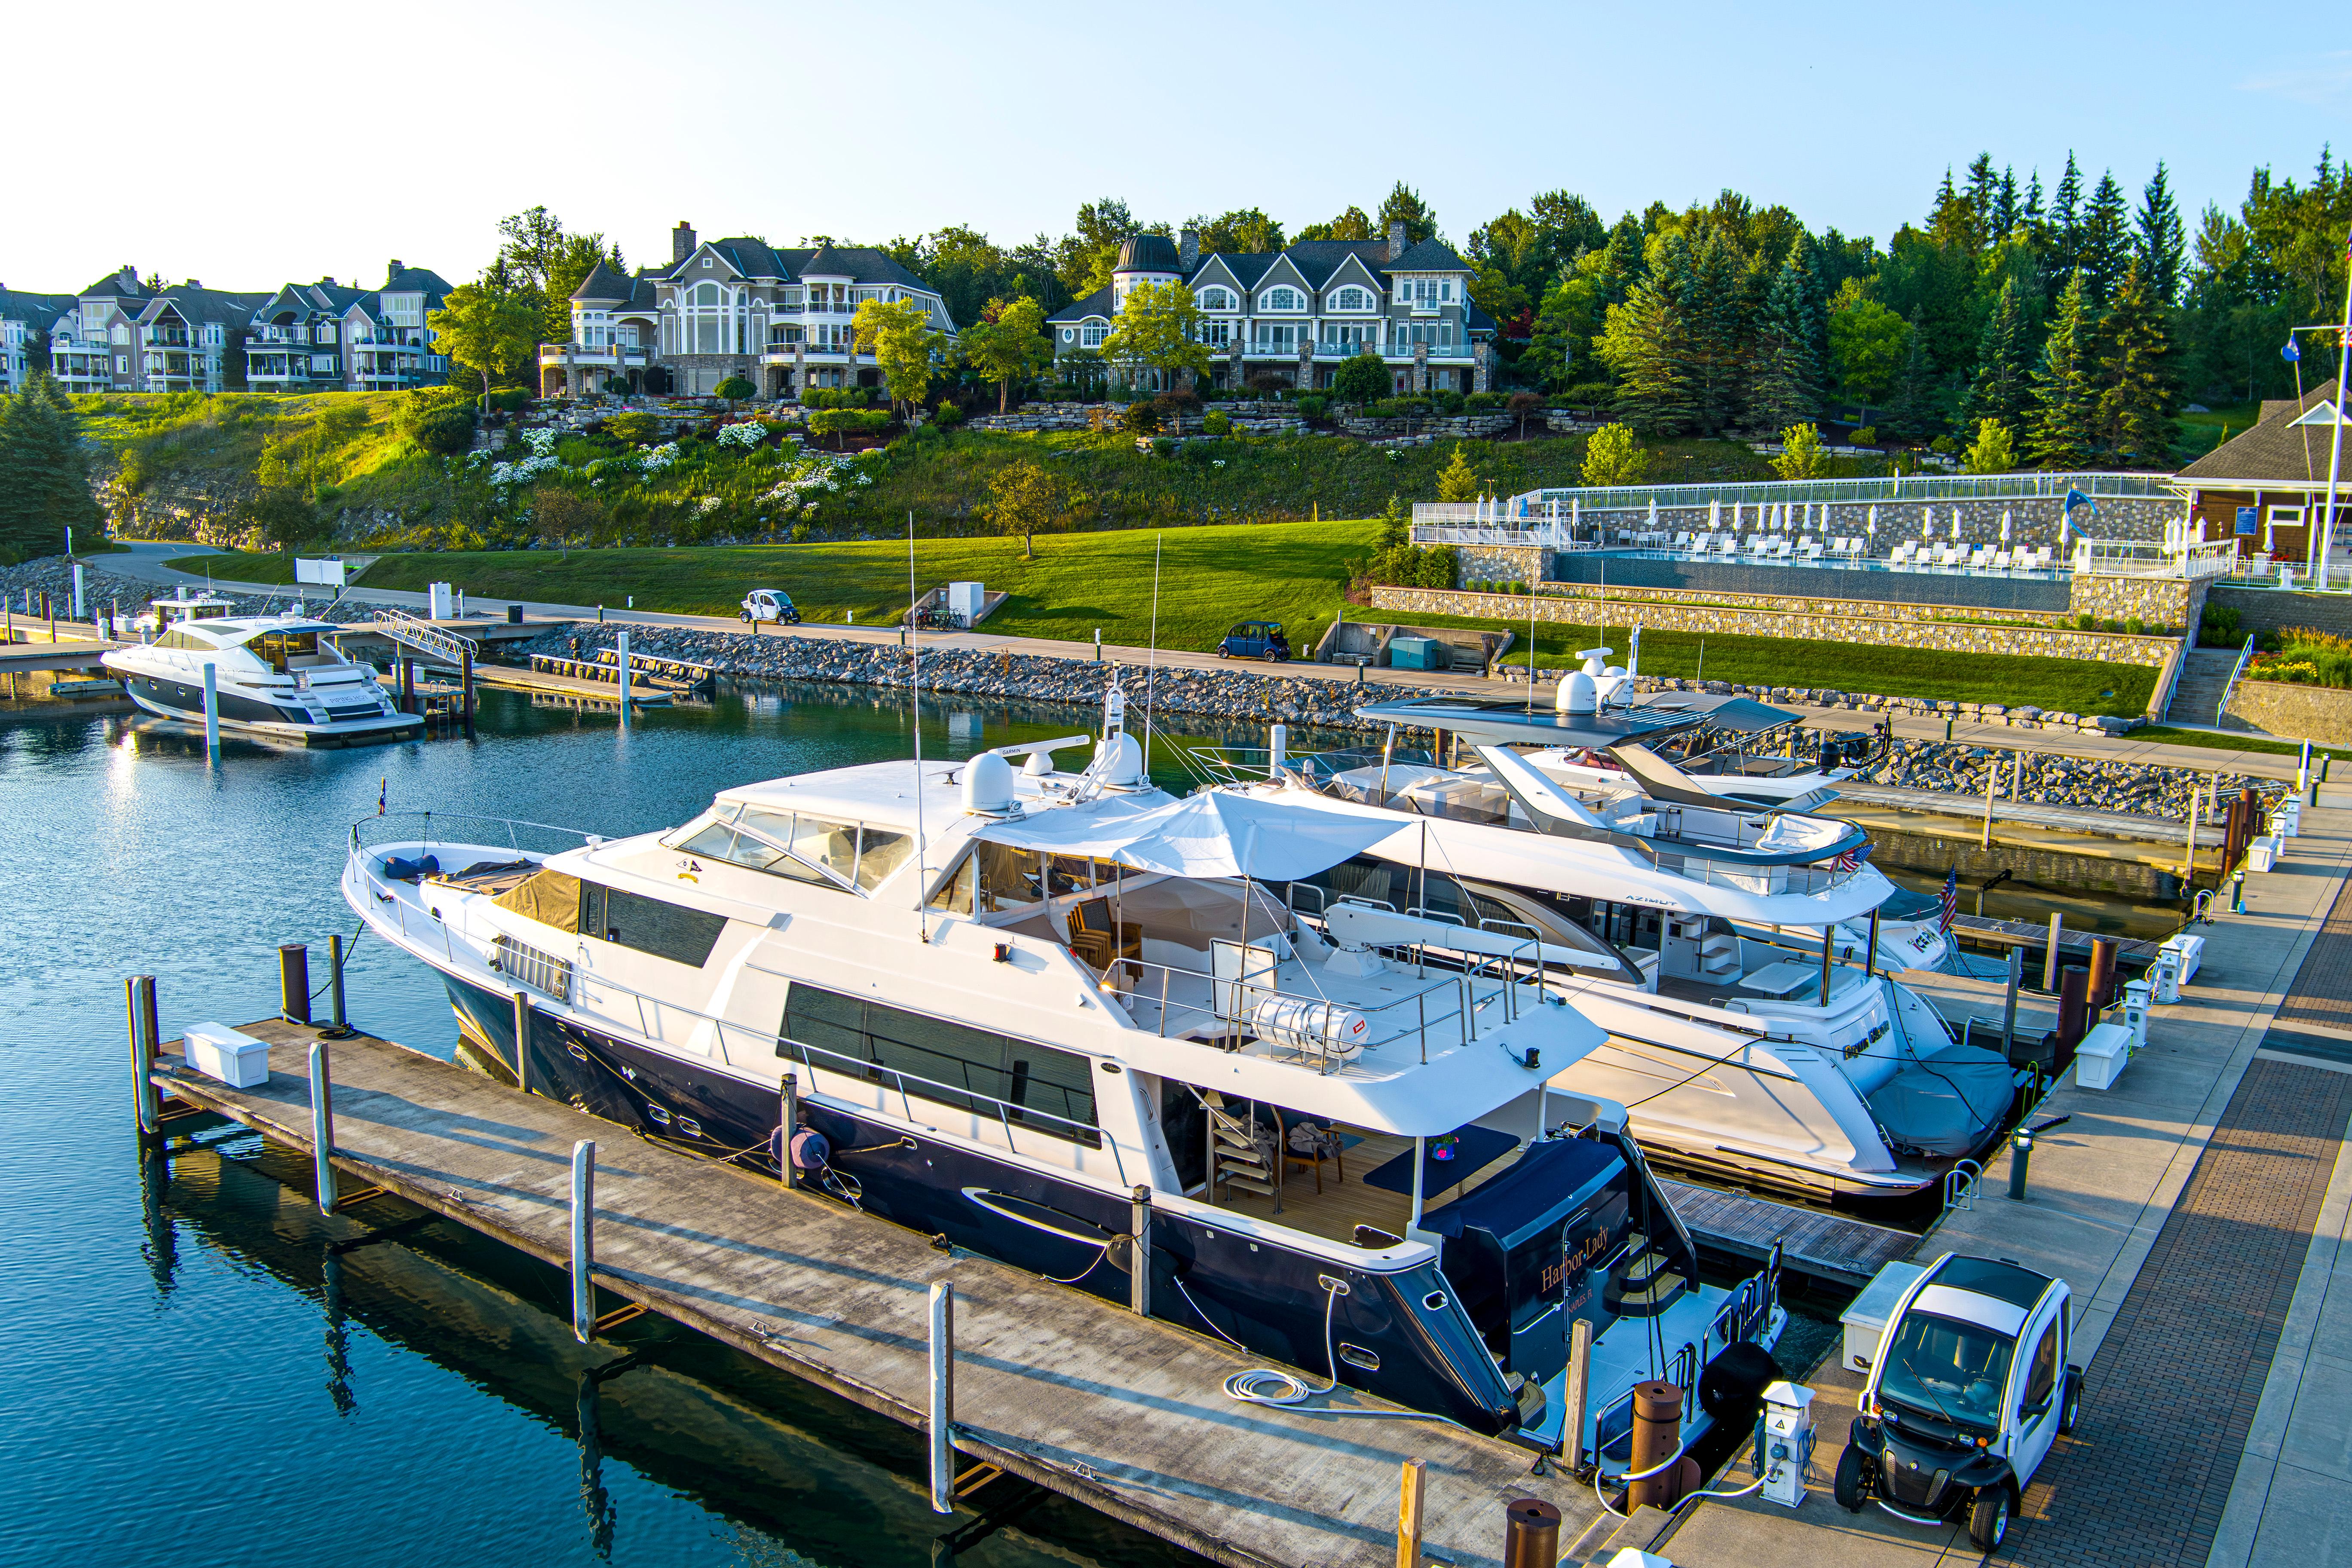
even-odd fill
[[(574, 621), (532, 642), (513, 646), (557, 658), (595, 658), (628, 630), (630, 651), (661, 658), (691, 658), (720, 675), (764, 679), (856, 682), (866, 686), (906, 686), (913, 661), (894, 644), (847, 642), (840, 637), (795, 637), (774, 632), (703, 632), (684, 628), (621, 628)], [(1141, 703), (1145, 682), (1160, 712), (1202, 715), (1242, 724), (1312, 724), (1352, 726), (1362, 703), (1428, 696), (1425, 686), (1388, 682), (1343, 682), (1272, 675), (1258, 670), (1171, 670), (1162, 665), (1087, 663), (1077, 658), (1037, 658), (1030, 654), (990, 654), (974, 649), (924, 649), (924, 691), (964, 696), (1021, 698), (1033, 703), (1101, 703), (1105, 684), (1117, 677), (1129, 703)]]

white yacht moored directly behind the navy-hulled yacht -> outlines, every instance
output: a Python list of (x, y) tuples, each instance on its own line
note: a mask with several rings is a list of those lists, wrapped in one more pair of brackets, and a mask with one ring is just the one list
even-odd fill
[[(1477, 708), (1456, 703), (1454, 736), (1477, 733)], [(1287, 889), (1334, 940), (1437, 919), (1463, 964), (1538, 943), (1550, 987), (1609, 1032), (1555, 1088), (1628, 1105), (1670, 1164), (1813, 1199), (1900, 1197), (1999, 1138), (2013, 1070), (1879, 973), (1870, 917), (1893, 889), (1856, 858), (1858, 827), (1576, 788), (1543, 750), (1472, 755), (1282, 757), (1256, 780), (1223, 762), (1254, 799), (1392, 827)]]

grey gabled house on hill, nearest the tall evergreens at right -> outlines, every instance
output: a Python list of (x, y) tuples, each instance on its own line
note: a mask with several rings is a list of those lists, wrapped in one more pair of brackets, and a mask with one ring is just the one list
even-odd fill
[[(1214, 386), (1261, 374), (1327, 388), (1341, 362), (1376, 353), (1399, 393), (1484, 393), (1494, 386), (1494, 320), (1470, 303), (1470, 263), (1442, 240), (1406, 244), (1404, 223), (1385, 240), (1301, 240), (1282, 252), (1200, 254), (1200, 233), (1136, 235), (1120, 247), (1110, 287), (1047, 317), (1054, 353), (1101, 353), (1127, 294), (1181, 282), (1216, 350)], [(1152, 386), (1157, 371), (1136, 371)]]

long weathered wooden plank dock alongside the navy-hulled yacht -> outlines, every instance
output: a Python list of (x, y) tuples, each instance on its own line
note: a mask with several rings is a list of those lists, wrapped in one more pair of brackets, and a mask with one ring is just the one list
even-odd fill
[[(158, 1086), (308, 1152), (315, 1032), (242, 1027), (273, 1046), (268, 1084), (195, 1074), (174, 1041)], [(341, 1171), (564, 1267), (572, 1145), (593, 1138), (600, 1286), (910, 1427), (927, 1420), (929, 1286), (953, 1281), (957, 1448), (1218, 1563), (1388, 1568), (1409, 1458), (1428, 1462), (1432, 1561), (1498, 1563), (1515, 1497), (1557, 1505), (1562, 1542), (1599, 1519), (1590, 1488), (1531, 1474), (1512, 1443), (1348, 1389), (1317, 1401), (1329, 1410), (1244, 1406), (1218, 1385), (1263, 1356), (386, 1039), (329, 1051)]]

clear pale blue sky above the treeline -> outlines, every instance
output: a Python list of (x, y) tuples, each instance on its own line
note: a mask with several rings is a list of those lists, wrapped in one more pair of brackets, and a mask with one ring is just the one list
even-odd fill
[[(1461, 242), (1536, 190), (1604, 219), (1733, 186), (1886, 235), (1980, 148), (2194, 228), (2256, 165), (2307, 176), (2352, 108), (2317, 5), (501, 5), (103, 7), (9, 73), (0, 282), (261, 289), (473, 275), (543, 202), (630, 263), (668, 228), (877, 240), (1367, 212), (1404, 179)], [(2314, 42), (2319, 40), (2319, 42)]]

